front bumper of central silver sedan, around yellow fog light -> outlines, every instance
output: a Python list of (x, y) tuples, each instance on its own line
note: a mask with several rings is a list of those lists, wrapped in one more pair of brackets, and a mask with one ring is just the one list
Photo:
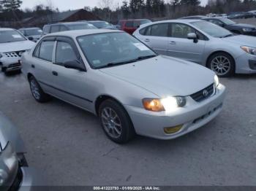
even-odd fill
[[(172, 113), (149, 112), (136, 106), (125, 106), (138, 135), (155, 139), (175, 139), (206, 125), (222, 111), (225, 86), (219, 85), (216, 93), (205, 101), (196, 102), (187, 97), (187, 105)], [(177, 133), (166, 134), (164, 128), (183, 125)]]

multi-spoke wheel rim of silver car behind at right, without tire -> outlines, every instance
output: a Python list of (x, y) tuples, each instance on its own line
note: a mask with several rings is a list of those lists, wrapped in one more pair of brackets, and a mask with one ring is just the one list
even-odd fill
[(230, 60), (223, 56), (217, 56), (211, 61), (211, 70), (213, 70), (219, 76), (225, 75), (230, 71)]

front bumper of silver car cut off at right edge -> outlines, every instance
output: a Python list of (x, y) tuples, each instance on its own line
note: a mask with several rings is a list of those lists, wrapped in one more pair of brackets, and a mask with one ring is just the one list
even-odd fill
[(236, 74), (256, 74), (256, 55), (244, 52), (235, 61)]

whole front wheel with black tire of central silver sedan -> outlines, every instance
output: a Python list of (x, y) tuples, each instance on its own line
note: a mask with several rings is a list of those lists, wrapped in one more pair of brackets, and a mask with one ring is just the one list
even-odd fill
[(124, 144), (135, 136), (132, 121), (123, 106), (108, 99), (99, 106), (99, 118), (108, 138)]

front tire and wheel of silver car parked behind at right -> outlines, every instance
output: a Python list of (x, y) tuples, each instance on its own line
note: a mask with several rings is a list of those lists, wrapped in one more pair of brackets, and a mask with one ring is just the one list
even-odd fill
[(207, 66), (219, 77), (232, 77), (235, 74), (236, 63), (231, 55), (217, 52), (208, 58)]

